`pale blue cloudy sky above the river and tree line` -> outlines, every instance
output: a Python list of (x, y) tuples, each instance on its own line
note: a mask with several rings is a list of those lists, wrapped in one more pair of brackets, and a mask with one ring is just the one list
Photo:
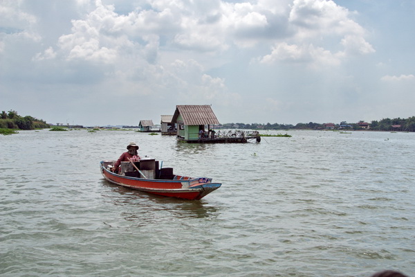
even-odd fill
[(415, 116), (413, 0), (0, 0), (0, 111), (47, 123)]

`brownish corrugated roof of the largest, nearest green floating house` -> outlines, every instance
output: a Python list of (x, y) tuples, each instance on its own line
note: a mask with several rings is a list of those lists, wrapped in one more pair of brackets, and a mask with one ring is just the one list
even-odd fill
[(177, 105), (172, 122), (176, 123), (179, 114), (185, 125), (219, 124), (210, 105)]

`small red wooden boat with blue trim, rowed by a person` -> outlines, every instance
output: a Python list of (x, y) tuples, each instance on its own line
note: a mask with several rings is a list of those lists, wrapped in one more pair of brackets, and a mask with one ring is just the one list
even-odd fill
[(211, 178), (192, 178), (173, 175), (173, 168), (158, 168), (158, 161), (141, 159), (122, 162), (119, 174), (111, 171), (115, 161), (101, 161), (100, 167), (105, 179), (134, 190), (154, 195), (181, 199), (202, 199), (221, 184), (212, 183)]

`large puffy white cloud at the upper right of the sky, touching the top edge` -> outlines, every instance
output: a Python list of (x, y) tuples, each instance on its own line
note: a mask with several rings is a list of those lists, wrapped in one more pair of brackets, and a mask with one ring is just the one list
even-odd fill
[(302, 63), (317, 69), (338, 66), (349, 55), (374, 53), (363, 28), (349, 16), (347, 9), (333, 1), (295, 0), (288, 17), (293, 35), (275, 42), (271, 53), (257, 60), (265, 64)]

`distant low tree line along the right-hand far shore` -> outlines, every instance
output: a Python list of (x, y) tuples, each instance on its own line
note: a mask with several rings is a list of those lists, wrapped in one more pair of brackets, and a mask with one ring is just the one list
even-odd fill
[[(360, 120), (359, 123), (363, 122)], [(359, 130), (362, 127), (359, 123), (347, 123), (342, 121), (340, 124), (335, 124), (335, 129), (351, 129)], [(297, 123), (292, 124), (279, 124), (279, 123), (225, 123), (222, 125), (226, 129), (325, 129), (324, 123)], [(369, 123), (369, 128), (375, 131), (404, 131), (415, 132), (415, 116), (409, 118), (383, 118), (382, 120), (372, 120)]]

